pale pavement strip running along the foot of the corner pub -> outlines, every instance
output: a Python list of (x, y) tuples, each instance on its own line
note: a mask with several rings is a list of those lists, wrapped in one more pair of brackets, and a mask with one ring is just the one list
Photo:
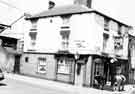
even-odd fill
[(42, 86), (42, 87), (49, 87), (49, 88), (56, 88), (58, 90), (64, 90), (67, 92), (71, 92), (73, 94), (135, 94), (135, 86), (133, 85), (126, 85), (125, 91), (122, 92), (113, 92), (107, 90), (99, 90), (90, 87), (82, 87), (82, 86), (75, 86), (66, 83), (45, 80), (40, 78), (28, 77), (24, 75), (18, 75), (13, 73), (4, 73), (5, 78), (10, 78), (14, 80), (23, 81), (26, 83)]

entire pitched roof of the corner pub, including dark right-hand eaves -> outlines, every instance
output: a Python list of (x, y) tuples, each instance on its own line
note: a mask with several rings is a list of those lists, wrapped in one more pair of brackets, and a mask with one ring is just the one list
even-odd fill
[(60, 16), (60, 15), (67, 15), (67, 14), (81, 14), (81, 13), (90, 13), (90, 12), (95, 12), (95, 13), (98, 13), (104, 17), (107, 17), (109, 19), (112, 19), (113, 21), (115, 22), (118, 22), (122, 25), (125, 25), (127, 27), (131, 27), (121, 21), (118, 21), (110, 16), (107, 16), (97, 10), (94, 10), (94, 9), (90, 9), (84, 5), (77, 5), (77, 4), (74, 4), (74, 5), (67, 5), (67, 6), (59, 6), (59, 7), (54, 7), (50, 10), (46, 10), (46, 11), (43, 11), (39, 14), (36, 14), (36, 15), (33, 15), (33, 16), (30, 16), (30, 17), (27, 17), (26, 20), (30, 20), (30, 19), (38, 19), (38, 18), (45, 18), (45, 17), (53, 17), (53, 16)]

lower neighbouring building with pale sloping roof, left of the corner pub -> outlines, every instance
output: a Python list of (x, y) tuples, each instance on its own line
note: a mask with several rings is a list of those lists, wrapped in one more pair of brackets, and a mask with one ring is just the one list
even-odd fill
[[(3, 71), (19, 73), (20, 57), (23, 52), (24, 31), (29, 25), (21, 15), (11, 25), (0, 24), (0, 65)], [(3, 58), (2, 58), (3, 57)]]

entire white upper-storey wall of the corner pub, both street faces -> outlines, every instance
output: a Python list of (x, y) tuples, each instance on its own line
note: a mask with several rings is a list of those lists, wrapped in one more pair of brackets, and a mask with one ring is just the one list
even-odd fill
[(128, 54), (129, 27), (98, 13), (32, 19), (31, 24), (24, 37), (24, 51)]

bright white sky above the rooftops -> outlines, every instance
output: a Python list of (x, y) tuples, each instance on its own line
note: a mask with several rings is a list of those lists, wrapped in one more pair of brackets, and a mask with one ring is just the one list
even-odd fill
[[(13, 6), (7, 6), (4, 2)], [(52, 0), (57, 6), (72, 4), (73, 0)], [(16, 8), (13, 8), (13, 7)], [(93, 0), (92, 7), (126, 24), (135, 26), (135, 0)], [(35, 14), (48, 8), (48, 0), (0, 0), (0, 23), (10, 24), (24, 12)]]

